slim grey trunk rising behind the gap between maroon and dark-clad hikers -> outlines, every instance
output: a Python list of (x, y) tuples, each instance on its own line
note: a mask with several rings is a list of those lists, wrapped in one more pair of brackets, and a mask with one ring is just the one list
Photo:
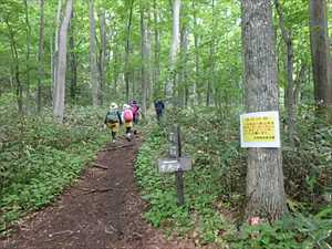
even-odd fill
[(145, 17), (145, 7), (141, 3), (141, 55), (142, 55), (142, 112), (146, 113), (147, 97), (147, 25)]

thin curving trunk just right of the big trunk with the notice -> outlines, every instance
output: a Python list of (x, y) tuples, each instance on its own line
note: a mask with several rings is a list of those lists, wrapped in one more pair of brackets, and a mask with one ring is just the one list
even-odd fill
[(274, 6), (277, 12), (279, 14), (279, 27), (281, 29), (282, 39), (287, 46), (287, 63), (286, 63), (286, 71), (287, 71), (287, 113), (288, 113), (288, 137), (290, 142), (290, 146), (294, 146), (294, 135), (295, 135), (295, 96), (294, 96), (294, 81), (293, 81), (293, 42), (292, 35), (290, 30), (284, 27), (284, 18), (283, 18), (283, 10), (280, 6), (279, 0), (274, 0)]

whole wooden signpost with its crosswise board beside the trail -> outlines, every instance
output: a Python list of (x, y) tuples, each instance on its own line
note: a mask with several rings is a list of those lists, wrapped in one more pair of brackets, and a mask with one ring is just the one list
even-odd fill
[(180, 127), (177, 125), (174, 132), (169, 133), (170, 146), (169, 158), (158, 159), (159, 173), (176, 173), (177, 205), (183, 206), (184, 197), (184, 172), (191, 169), (191, 159), (183, 156)]

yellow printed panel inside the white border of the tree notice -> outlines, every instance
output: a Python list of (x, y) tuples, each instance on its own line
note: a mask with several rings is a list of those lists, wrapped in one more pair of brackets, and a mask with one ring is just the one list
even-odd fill
[(243, 141), (245, 142), (273, 142), (274, 118), (269, 116), (243, 118)]

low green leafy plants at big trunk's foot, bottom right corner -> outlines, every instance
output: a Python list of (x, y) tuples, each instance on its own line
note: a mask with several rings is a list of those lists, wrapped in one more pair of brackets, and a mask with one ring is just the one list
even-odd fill
[[(331, 208), (330, 208), (331, 214)], [(284, 217), (273, 224), (245, 225), (240, 232), (229, 237), (231, 248), (256, 249), (329, 249), (332, 242), (332, 217)]]

